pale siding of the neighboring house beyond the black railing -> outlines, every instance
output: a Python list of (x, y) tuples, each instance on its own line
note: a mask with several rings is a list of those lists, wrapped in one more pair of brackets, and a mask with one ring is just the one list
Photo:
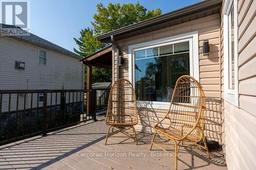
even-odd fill
[[(38, 47), (6, 37), (0, 37), (0, 89), (83, 89), (83, 65), (74, 58), (53, 51), (47, 52), (47, 65), (38, 64)], [(15, 69), (15, 61), (25, 62), (25, 70)], [(58, 98), (59, 98), (58, 94)], [(67, 94), (68, 96), (68, 94)], [(53, 95), (53, 98), (55, 94)], [(71, 95), (71, 101), (73, 96)], [(76, 94), (74, 94), (76, 99)], [(11, 110), (16, 110), (16, 94), (11, 95)], [(9, 95), (3, 95), (2, 111), (8, 110)], [(31, 94), (26, 108), (30, 108)], [(67, 99), (68, 100), (68, 99)], [(19, 96), (19, 109), (23, 109), (24, 95)], [(55, 103), (55, 100), (52, 101)], [(36, 107), (37, 94), (33, 95)], [(48, 104), (50, 95), (48, 95)], [(59, 101), (57, 101), (59, 104)], [(42, 103), (39, 103), (42, 106)]]

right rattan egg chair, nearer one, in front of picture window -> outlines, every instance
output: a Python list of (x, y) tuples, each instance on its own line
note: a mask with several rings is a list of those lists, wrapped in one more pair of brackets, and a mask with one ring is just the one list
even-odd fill
[[(175, 158), (175, 169), (177, 169), (177, 154), (180, 146), (203, 149), (210, 158), (203, 132), (204, 111), (205, 95), (202, 86), (193, 77), (181, 76), (176, 82), (166, 116), (154, 126), (155, 133), (150, 150), (154, 144), (173, 156)], [(167, 137), (173, 142), (155, 142), (156, 134)], [(190, 144), (183, 144), (183, 141), (190, 142)], [(198, 144), (200, 141), (203, 141), (203, 145)], [(163, 144), (174, 145), (175, 154), (165, 150)]]

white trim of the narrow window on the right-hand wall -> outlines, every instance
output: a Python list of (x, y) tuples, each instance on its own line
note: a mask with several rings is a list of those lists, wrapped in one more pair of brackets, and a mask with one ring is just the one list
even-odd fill
[[(229, 37), (228, 37), (228, 14), (233, 4), (234, 7), (234, 89), (229, 89)], [(224, 4), (223, 16), (223, 40), (224, 40), (224, 99), (239, 107), (238, 99), (238, 15), (237, 0), (227, 0)]]

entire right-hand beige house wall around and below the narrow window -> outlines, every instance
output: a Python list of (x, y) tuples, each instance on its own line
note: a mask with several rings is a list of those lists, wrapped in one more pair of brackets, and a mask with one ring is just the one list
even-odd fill
[[(223, 3), (225, 4), (225, 3)], [(239, 107), (225, 101), (223, 43), (221, 43), (222, 103), (225, 155), (228, 169), (256, 167), (256, 1), (238, 1), (238, 93)], [(221, 12), (223, 42), (223, 12)]]

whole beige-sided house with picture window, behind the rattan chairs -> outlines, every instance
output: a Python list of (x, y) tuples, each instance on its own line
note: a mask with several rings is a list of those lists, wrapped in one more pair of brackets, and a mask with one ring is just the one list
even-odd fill
[[(223, 146), (228, 169), (255, 169), (255, 9), (254, 0), (203, 1), (97, 37), (113, 44), (113, 82), (135, 87), (137, 130), (153, 132), (176, 80), (191, 75), (206, 95), (207, 139)], [(103, 67), (108, 49), (82, 61)]]

